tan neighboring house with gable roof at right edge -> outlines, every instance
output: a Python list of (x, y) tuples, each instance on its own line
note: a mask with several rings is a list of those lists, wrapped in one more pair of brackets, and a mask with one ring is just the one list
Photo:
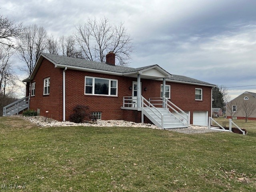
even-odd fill
[(256, 120), (256, 93), (244, 92), (226, 104), (227, 118), (245, 119), (247, 113), (252, 110), (252, 114), (248, 116), (248, 120)]

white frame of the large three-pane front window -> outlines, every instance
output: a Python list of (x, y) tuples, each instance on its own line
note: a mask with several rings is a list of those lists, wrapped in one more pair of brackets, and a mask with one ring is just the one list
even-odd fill
[[(92, 79), (92, 93), (86, 93), (86, 78)], [(108, 80), (108, 95), (105, 94), (94, 94), (94, 87), (95, 87), (95, 78), (96, 79), (104, 79)], [(116, 81), (116, 94), (111, 95), (111, 81)], [(98, 96), (111, 96), (111, 97), (117, 97), (118, 96), (118, 80), (117, 79), (109, 79), (109, 78), (101, 78), (101, 77), (92, 77), (92, 76), (84, 76), (84, 94), (85, 95), (98, 95)]]

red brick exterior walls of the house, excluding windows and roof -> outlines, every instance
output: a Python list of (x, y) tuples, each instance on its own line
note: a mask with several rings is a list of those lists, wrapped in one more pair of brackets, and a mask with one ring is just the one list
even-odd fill
[[(63, 69), (54, 68), (54, 64), (44, 59), (32, 82), (36, 82), (36, 96), (31, 97), (30, 108), (40, 108), (42, 116), (62, 120), (62, 74)], [(118, 80), (118, 96), (96, 96), (84, 94), (85, 76), (110, 78)], [(43, 96), (44, 78), (50, 77), (50, 95)], [(132, 96), (132, 82), (137, 78), (82, 72), (78, 70), (66, 70), (66, 120), (69, 120), (72, 109), (77, 104), (89, 106), (90, 112), (102, 112), (102, 120), (129, 120), (141, 122), (141, 112), (134, 110), (122, 110), (123, 96)], [(146, 98), (160, 97), (160, 85), (162, 81), (141, 79), (142, 95)], [(184, 111), (190, 111), (190, 122), (193, 121), (194, 111), (208, 111), (211, 114), (211, 87), (195, 86), (166, 82), (171, 86), (171, 101)], [(144, 88), (147, 88), (144, 91)], [(195, 100), (195, 88), (203, 89), (203, 100)], [(46, 114), (46, 110), (49, 111)], [(145, 122), (149, 122), (145, 118)]]

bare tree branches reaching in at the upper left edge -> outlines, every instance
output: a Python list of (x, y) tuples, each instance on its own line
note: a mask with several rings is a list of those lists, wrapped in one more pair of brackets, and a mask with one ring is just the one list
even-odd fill
[(14, 46), (14, 40), (22, 33), (22, 23), (16, 24), (14, 20), (0, 15), (0, 44)]

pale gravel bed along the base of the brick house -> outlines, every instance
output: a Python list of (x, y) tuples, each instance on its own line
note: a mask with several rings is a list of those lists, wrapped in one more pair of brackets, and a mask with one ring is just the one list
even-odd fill
[[(54, 119), (46, 118), (44, 116), (33, 116), (33, 117), (24, 117), (24, 119), (29, 120), (30, 122), (37, 124), (41, 127), (55, 127), (55, 126), (94, 126), (94, 127), (144, 127), (151, 129), (161, 129), (152, 124), (143, 124), (143, 123), (134, 123), (124, 120), (97, 120), (94, 123), (74, 123), (70, 121), (60, 122)], [(170, 131), (194, 134), (194, 133), (206, 133), (206, 132), (216, 132), (216, 130), (209, 130), (206, 126), (195, 126), (190, 125), (188, 128), (175, 128), (169, 129)], [(218, 132), (218, 131), (217, 131)]]

